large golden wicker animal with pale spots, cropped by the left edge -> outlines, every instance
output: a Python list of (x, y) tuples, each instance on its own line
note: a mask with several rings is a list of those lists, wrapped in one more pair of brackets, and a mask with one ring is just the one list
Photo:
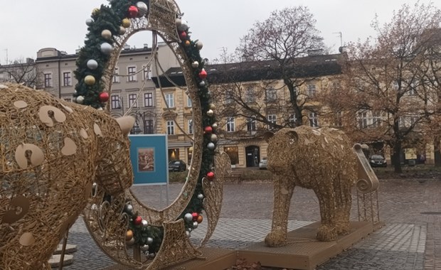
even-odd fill
[(132, 185), (134, 119), (21, 85), (0, 93), (0, 269), (50, 269), (94, 181), (109, 195)]

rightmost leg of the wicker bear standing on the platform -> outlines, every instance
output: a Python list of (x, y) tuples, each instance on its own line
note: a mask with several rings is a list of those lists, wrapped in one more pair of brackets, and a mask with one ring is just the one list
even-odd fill
[(352, 194), (351, 180), (339, 179), (334, 183), (336, 198), (336, 229), (338, 234), (349, 232), (349, 217), (351, 215)]

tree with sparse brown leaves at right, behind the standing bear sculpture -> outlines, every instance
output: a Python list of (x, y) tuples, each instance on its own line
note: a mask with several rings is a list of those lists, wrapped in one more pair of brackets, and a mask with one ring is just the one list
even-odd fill
[(348, 96), (341, 100), (346, 131), (355, 139), (390, 146), (395, 173), (402, 171), (403, 148), (425, 144), (427, 119), (437, 113), (439, 88), (427, 83), (427, 44), (429, 30), (440, 26), (440, 15), (432, 4), (418, 2), (413, 9), (404, 4), (389, 23), (373, 21), (378, 33), (374, 42), (349, 45), (344, 70)]

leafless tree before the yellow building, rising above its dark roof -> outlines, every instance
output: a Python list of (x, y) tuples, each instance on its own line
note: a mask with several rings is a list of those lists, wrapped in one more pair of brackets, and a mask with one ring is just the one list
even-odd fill
[[(320, 67), (313, 67), (304, 57), (324, 53), (323, 38), (315, 23), (304, 6), (273, 11), (267, 20), (254, 24), (233, 55), (223, 55), (220, 62), (230, 65), (219, 66), (217, 76), (218, 82), (224, 84), (219, 92), (229, 102), (230, 112), (253, 117), (275, 129), (303, 124), (302, 117), (308, 109), (305, 104), (311, 97), (298, 90), (320, 73)], [(280, 80), (282, 85), (277, 83)], [(255, 85), (247, 83), (250, 81)], [(253, 96), (247, 94), (249, 87), (255, 90)], [(259, 102), (262, 100), (265, 102)], [(283, 114), (277, 124), (267, 119), (272, 110), (279, 116)]]

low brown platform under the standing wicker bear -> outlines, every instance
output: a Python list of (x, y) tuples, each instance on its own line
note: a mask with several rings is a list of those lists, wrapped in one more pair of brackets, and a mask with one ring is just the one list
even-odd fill
[[(285, 247), (266, 247), (264, 242), (259, 242), (241, 250), (203, 248), (201, 258), (175, 264), (167, 270), (224, 270), (234, 266), (237, 259), (246, 259), (250, 263), (260, 261), (262, 266), (312, 270), (356, 244), (374, 230), (370, 222), (351, 222), (349, 234), (340, 236), (336, 241), (319, 242), (315, 239), (319, 224), (314, 222), (289, 232), (289, 244)], [(129, 268), (113, 266), (107, 269)]]

